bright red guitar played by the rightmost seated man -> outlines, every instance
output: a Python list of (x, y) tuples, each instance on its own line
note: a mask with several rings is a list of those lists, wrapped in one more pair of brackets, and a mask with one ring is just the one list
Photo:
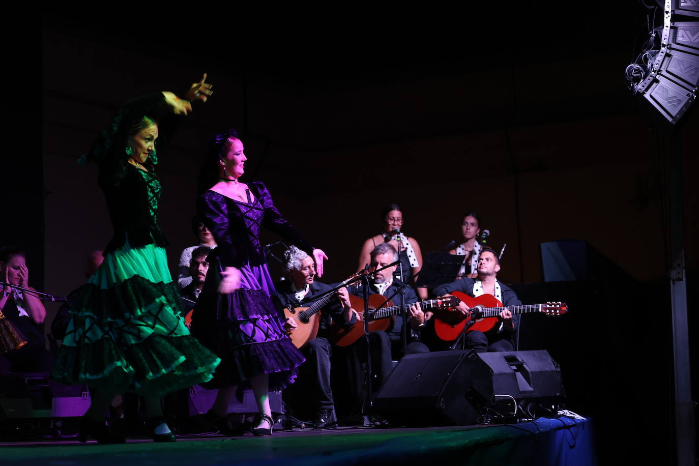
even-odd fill
[[(489, 294), (477, 296), (476, 298), (472, 298), (466, 293), (461, 293), (461, 291), (452, 291), (449, 294), (466, 303), (470, 310), (468, 314), (464, 315), (452, 309), (456, 306), (449, 306), (449, 309), (435, 312), (435, 333), (447, 342), (459, 338), (467, 323), (470, 323), (470, 326), (466, 328), (466, 332), (480, 330), (483, 333), (487, 333), (493, 330), (499, 322), (498, 315), (505, 309), (510, 310), (512, 314), (542, 312), (547, 316), (561, 316), (568, 312), (568, 306), (564, 303), (503, 306), (503, 303), (500, 303), (495, 296)], [(456, 305), (459, 305), (459, 303), (456, 303)]]

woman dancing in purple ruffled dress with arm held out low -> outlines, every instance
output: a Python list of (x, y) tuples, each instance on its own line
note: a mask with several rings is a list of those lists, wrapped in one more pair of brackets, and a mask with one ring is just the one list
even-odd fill
[[(218, 388), (210, 420), (222, 433), (238, 435), (228, 422), (228, 407), (236, 388), (249, 383), (260, 412), (252, 433), (271, 435), (269, 390), (293, 383), (304, 358), (289, 340), (285, 320), (270, 297), (275, 289), (259, 242), (260, 228), (312, 255), (318, 276), (328, 258), (282, 217), (264, 184), (239, 181), (246, 160), (238, 133), (229, 130), (216, 136), (202, 172), (210, 189), (199, 196), (197, 214), (218, 247), (209, 256), (212, 266), (194, 307), (192, 333), (222, 360), (214, 378), (202, 384)], [(204, 181), (207, 174), (213, 180)]]

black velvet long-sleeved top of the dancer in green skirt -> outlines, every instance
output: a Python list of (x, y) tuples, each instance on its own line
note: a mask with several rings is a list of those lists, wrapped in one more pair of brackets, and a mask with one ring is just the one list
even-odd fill
[[(111, 252), (129, 241), (131, 247), (155, 244), (165, 247), (167, 240), (157, 225), (160, 181), (155, 173), (157, 153), (171, 139), (179, 118), (166, 115), (163, 94), (138, 97), (125, 103), (105, 131), (102, 131), (90, 152), (82, 159), (99, 167), (99, 187), (104, 192), (114, 234), (104, 252)], [(156, 153), (143, 163), (145, 172), (128, 163), (126, 153), (129, 129), (144, 116), (158, 122)]]

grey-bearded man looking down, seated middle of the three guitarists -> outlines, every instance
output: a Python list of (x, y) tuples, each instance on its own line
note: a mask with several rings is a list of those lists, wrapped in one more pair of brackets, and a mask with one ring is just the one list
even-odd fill
[[(375, 247), (370, 253), (371, 266), (382, 268), (389, 263), (398, 260), (398, 252), (388, 242), (382, 242)], [(405, 292), (405, 303), (408, 307), (408, 315), (410, 316), (408, 330), (408, 354), (428, 353), (429, 349), (419, 340), (420, 330), (424, 326), (425, 315), (417, 302), (415, 291), (410, 286), (405, 286), (394, 277), (394, 271), (397, 265), (389, 267), (381, 272), (377, 272), (373, 283), (369, 286), (369, 295), (380, 294), (387, 299), (392, 300), (394, 305), (401, 304), (401, 290)], [(349, 293), (361, 297), (363, 291), (361, 286), (349, 286)], [(361, 322), (359, 323), (361, 325)], [(403, 326), (403, 317), (396, 315), (393, 326), (386, 331), (375, 330), (369, 333), (369, 344), (371, 347), (371, 364), (372, 372), (377, 376), (378, 384), (373, 386), (373, 390), (380, 388), (391, 372), (394, 359), (403, 357), (403, 341), (401, 337)], [(363, 337), (355, 344), (364, 344)], [(365, 350), (366, 351), (366, 350)]]

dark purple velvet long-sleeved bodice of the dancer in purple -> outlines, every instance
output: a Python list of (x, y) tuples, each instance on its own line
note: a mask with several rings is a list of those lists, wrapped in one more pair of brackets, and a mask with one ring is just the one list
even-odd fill
[(199, 196), (196, 211), (218, 245), (212, 254), (221, 259), (224, 267), (262, 265), (266, 262), (260, 245), (259, 231), (264, 226), (307, 254), (313, 254), (310, 243), (282, 217), (272, 202), (272, 196), (264, 184), (248, 184), (254, 195), (252, 203), (236, 201), (215, 191)]

